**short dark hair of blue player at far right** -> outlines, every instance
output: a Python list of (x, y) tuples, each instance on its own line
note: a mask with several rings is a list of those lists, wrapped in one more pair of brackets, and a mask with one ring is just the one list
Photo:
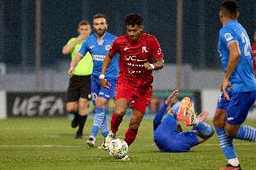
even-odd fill
[(221, 10), (224, 11), (224, 14), (227, 14), (231, 18), (237, 18), (238, 7), (237, 3), (233, 0), (226, 0), (221, 5)]

